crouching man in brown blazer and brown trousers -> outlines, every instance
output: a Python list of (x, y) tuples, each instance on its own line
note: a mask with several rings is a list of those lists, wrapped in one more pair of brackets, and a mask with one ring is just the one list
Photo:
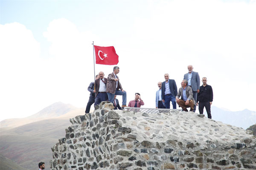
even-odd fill
[(193, 98), (192, 88), (188, 86), (186, 79), (183, 79), (181, 82), (181, 88), (179, 88), (176, 96), (176, 102), (183, 111), (188, 111), (187, 108), (190, 108), (190, 111), (194, 110), (195, 99)]

